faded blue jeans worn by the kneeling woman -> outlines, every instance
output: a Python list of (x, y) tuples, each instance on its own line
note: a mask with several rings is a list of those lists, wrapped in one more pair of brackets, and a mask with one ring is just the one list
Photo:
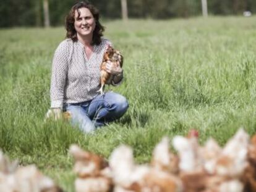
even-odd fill
[(121, 94), (107, 92), (90, 101), (66, 104), (64, 109), (71, 114), (72, 125), (89, 133), (106, 123), (119, 119), (127, 111), (129, 105)]

